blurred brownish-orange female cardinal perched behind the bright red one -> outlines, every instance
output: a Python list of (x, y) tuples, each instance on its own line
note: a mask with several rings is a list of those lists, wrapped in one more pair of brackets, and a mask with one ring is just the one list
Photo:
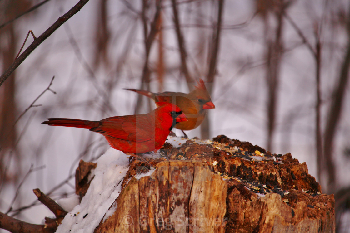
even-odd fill
[(188, 117), (187, 122), (176, 124), (175, 128), (180, 130), (192, 130), (197, 128), (202, 124), (205, 115), (207, 115), (206, 109), (215, 108), (202, 79), (197, 82), (195, 89), (188, 94), (181, 92), (152, 93), (146, 90), (137, 89), (126, 90), (132, 90), (133, 92), (145, 95), (155, 102), (168, 102), (179, 106), (183, 113)]

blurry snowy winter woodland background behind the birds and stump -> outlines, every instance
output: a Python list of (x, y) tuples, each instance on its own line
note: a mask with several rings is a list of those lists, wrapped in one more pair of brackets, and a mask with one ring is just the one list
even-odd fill
[[(77, 2), (0, 1), (1, 74), (29, 30), (38, 37)], [(86, 129), (41, 125), (46, 118), (145, 113), (154, 104), (123, 88), (189, 92), (202, 78), (216, 108), (188, 136), (291, 152), (335, 194), (337, 231), (348, 232), (349, 8), (348, 0), (87, 2), (0, 87), (0, 211), (40, 224), (53, 214), (32, 190), (72, 195), (79, 160), (109, 147)]]

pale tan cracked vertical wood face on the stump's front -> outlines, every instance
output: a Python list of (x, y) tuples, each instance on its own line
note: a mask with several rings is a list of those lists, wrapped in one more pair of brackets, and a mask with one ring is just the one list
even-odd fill
[(160, 162), (134, 177), (95, 232), (224, 232), (227, 184), (202, 162)]

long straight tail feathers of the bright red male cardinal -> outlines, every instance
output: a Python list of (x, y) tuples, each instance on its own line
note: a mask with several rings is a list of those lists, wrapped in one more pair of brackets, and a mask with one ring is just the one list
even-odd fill
[(44, 121), (41, 124), (91, 129), (97, 127), (99, 125), (99, 122), (69, 118), (48, 118), (48, 121)]

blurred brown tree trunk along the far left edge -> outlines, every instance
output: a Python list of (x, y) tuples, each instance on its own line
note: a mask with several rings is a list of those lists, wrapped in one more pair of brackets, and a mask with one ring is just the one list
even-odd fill
[[(27, 7), (29, 7), (29, 1), (27, 0), (2, 1), (0, 3), (0, 22), (4, 23), (12, 20)], [(15, 24), (10, 23), (0, 29), (0, 66), (3, 70), (9, 67), (16, 57), (18, 41), (14, 28)], [(16, 72), (13, 72), (0, 89), (0, 184), (9, 181), (16, 182), (21, 174), (20, 155), (15, 148), (17, 138), (16, 128), (14, 128), (16, 120), (15, 77)], [(9, 153), (9, 151), (12, 152)], [(14, 158), (11, 158), (12, 156)], [(11, 163), (15, 164), (16, 168), (11, 173), (6, 173), (12, 159), (15, 159)], [(11, 174), (11, 177), (8, 176), (9, 174)]]

